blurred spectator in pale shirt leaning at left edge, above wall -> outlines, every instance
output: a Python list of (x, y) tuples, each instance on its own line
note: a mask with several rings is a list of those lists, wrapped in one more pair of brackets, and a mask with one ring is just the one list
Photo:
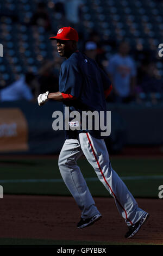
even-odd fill
[(33, 73), (21, 76), (10, 86), (0, 90), (0, 101), (34, 100), (32, 94), (32, 83), (35, 80)]

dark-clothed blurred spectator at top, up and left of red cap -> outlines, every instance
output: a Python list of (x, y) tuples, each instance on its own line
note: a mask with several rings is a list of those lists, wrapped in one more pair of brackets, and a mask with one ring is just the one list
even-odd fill
[(46, 31), (51, 29), (51, 22), (49, 20), (48, 11), (46, 10), (46, 4), (44, 2), (38, 3), (37, 10), (32, 16), (30, 25), (44, 27)]

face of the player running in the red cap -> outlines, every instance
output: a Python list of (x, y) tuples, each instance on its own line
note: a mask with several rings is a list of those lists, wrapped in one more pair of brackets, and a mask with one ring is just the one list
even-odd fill
[(61, 57), (70, 57), (74, 50), (73, 41), (57, 39), (57, 50)]

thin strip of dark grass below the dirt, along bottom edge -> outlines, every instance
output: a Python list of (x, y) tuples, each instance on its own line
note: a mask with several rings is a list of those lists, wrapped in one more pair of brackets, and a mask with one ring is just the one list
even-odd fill
[(155, 245), (154, 243), (135, 242), (98, 242), (98, 241), (73, 241), (73, 240), (43, 240), (43, 239), (16, 239), (1, 238), (0, 245)]

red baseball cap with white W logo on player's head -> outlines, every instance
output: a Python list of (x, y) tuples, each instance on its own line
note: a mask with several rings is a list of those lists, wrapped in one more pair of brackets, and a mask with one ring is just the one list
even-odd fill
[(76, 29), (71, 28), (71, 27), (64, 27), (60, 28), (56, 36), (51, 36), (49, 39), (51, 40), (73, 40), (78, 42), (79, 41), (79, 36), (78, 32)]

